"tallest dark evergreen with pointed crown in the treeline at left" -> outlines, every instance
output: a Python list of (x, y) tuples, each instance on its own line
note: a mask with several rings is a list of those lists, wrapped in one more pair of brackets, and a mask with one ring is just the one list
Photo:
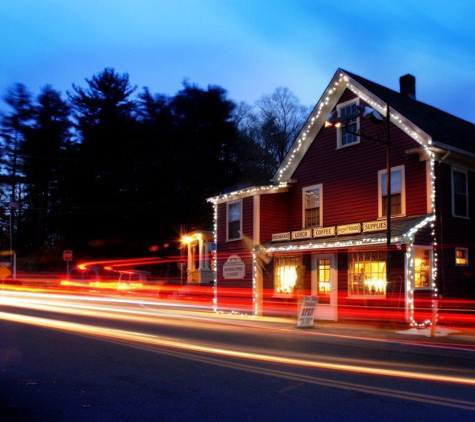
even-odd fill
[(84, 248), (115, 244), (130, 227), (136, 198), (128, 183), (133, 170), (129, 158), (140, 143), (134, 137), (136, 104), (130, 98), (136, 87), (129, 75), (106, 68), (86, 82), (88, 88), (73, 85), (74, 92), (68, 92), (80, 141), (71, 223)]

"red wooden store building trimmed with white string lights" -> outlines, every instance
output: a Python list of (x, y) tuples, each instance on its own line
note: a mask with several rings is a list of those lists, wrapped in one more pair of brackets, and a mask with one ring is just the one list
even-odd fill
[[(417, 101), (411, 75), (400, 88), (339, 69), (272, 184), (209, 199), (217, 311), (295, 315), (307, 294), (317, 320), (415, 326), (436, 299), (473, 309), (475, 125)], [(325, 127), (332, 112), (357, 117)]]

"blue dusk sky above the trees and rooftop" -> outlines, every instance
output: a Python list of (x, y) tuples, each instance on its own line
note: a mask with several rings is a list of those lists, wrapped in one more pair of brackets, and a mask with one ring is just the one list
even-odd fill
[(288, 87), (314, 105), (340, 67), (475, 122), (475, 2), (12, 0), (0, 5), (0, 95), (65, 93), (105, 67), (173, 95), (184, 78), (253, 103)]

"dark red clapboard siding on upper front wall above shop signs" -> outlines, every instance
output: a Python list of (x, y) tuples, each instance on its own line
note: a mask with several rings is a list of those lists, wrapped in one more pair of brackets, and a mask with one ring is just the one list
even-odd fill
[[(351, 98), (344, 95), (342, 102)], [(362, 130), (373, 133), (370, 123)], [(427, 212), (426, 163), (406, 151), (419, 146), (391, 125), (391, 166), (403, 165), (406, 180), (406, 214)], [(386, 145), (361, 139), (359, 144), (337, 149), (336, 129), (322, 128), (294, 172), (297, 183), (289, 193), (289, 227), (302, 228), (302, 189), (322, 184), (323, 226), (378, 218), (378, 171), (386, 169)]]

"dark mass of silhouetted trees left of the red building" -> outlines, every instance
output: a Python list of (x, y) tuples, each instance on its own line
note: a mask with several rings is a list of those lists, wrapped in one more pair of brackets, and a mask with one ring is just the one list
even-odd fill
[(139, 91), (112, 68), (65, 98), (18, 83), (3, 100), (0, 247), (40, 269), (64, 249), (146, 256), (211, 228), (206, 198), (268, 184), (308, 114), (287, 88), (251, 106), (188, 81), (174, 96)]

